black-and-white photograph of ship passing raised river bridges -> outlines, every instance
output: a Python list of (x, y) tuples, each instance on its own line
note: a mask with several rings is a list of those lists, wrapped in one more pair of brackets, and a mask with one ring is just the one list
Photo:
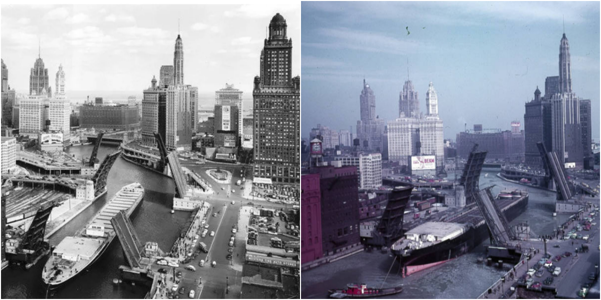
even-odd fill
[(300, 298), (300, 2), (0, 8), (2, 298)]

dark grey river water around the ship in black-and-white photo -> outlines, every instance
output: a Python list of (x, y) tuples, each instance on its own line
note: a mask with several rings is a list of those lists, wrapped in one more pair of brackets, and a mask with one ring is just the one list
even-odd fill
[[(93, 145), (73, 146), (70, 154), (81, 158), (90, 157)], [(117, 146), (101, 146), (98, 158), (117, 151)], [(65, 236), (73, 235), (90, 220), (124, 185), (140, 182), (145, 188), (144, 201), (132, 216), (132, 224), (142, 242), (154, 241), (164, 251), (169, 251), (180, 229), (189, 217), (189, 212), (171, 214), (175, 184), (171, 178), (148, 171), (123, 158), (118, 158), (108, 175), (108, 192), (96, 200), (84, 212), (70, 221), (50, 237), (56, 245)], [(44, 298), (46, 290), (41, 280), (41, 271), (46, 259), (40, 260), (29, 270), (8, 267), (2, 271), (2, 298)], [(60, 287), (51, 295), (53, 298), (143, 298), (147, 287), (112, 283), (119, 278), (119, 266), (127, 265), (118, 238), (115, 238), (105, 254), (87, 271)]]

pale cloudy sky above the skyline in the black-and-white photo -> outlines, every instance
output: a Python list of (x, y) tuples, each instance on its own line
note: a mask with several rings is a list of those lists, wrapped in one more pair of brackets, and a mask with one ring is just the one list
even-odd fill
[(266, 26), (285, 17), (300, 74), (300, 5), (2, 5), (2, 59), (8, 82), (29, 92), (38, 56), (54, 88), (63, 64), (69, 91), (142, 91), (161, 65), (173, 64), (175, 38), (184, 46), (185, 83), (212, 93), (234, 83), (252, 97)]

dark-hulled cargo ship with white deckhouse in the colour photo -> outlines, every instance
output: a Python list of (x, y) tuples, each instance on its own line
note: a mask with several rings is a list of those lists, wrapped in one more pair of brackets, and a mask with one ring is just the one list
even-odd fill
[[(511, 221), (525, 211), (528, 192), (501, 191), (495, 201)], [(488, 226), (475, 203), (443, 219), (413, 227), (392, 244), (391, 251), (395, 259), (400, 259), (403, 277), (462, 256), (489, 237)]]

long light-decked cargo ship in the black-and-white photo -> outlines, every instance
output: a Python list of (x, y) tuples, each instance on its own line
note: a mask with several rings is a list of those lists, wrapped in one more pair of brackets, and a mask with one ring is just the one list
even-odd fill
[(44, 283), (50, 289), (58, 287), (96, 262), (115, 238), (112, 217), (124, 211), (129, 218), (143, 198), (144, 187), (138, 182), (121, 188), (75, 236), (56, 245), (42, 271)]

